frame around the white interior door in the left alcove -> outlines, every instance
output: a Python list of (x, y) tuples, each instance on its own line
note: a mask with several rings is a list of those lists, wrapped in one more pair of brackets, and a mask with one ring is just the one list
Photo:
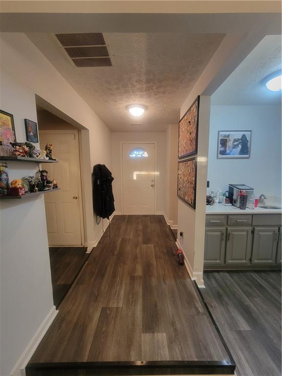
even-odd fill
[[(81, 156), (80, 156), (80, 148), (79, 148), (79, 131), (78, 129), (43, 129), (43, 130), (38, 130), (39, 133), (39, 141), (40, 141), (40, 133), (43, 135), (50, 135), (50, 134), (56, 134), (56, 135), (73, 135), (77, 142), (75, 142), (76, 145), (76, 169), (77, 169), (77, 176), (79, 179), (78, 183), (78, 194), (79, 194), (79, 200), (78, 200), (78, 205), (79, 205), (79, 216), (80, 216), (80, 232), (81, 232), (81, 246), (85, 247), (85, 235), (84, 235), (84, 207), (83, 207), (83, 200), (82, 200), (82, 181), (81, 181), (81, 166), (80, 166), (80, 161), (81, 161)], [(78, 160), (77, 160), (78, 157)], [(69, 245), (61, 245), (60, 247), (70, 247)]]

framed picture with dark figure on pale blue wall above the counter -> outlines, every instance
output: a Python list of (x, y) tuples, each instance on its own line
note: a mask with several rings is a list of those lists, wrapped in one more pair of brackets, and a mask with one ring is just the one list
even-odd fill
[(218, 131), (217, 158), (250, 158), (252, 131)]

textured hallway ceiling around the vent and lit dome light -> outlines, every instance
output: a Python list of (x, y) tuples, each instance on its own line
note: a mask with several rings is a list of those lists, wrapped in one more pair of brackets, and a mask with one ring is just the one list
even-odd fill
[[(47, 33), (27, 36), (113, 131), (164, 131), (224, 34), (107, 33), (115, 67), (74, 68)], [(148, 107), (141, 118), (126, 110)], [(131, 123), (142, 123), (132, 126)]]

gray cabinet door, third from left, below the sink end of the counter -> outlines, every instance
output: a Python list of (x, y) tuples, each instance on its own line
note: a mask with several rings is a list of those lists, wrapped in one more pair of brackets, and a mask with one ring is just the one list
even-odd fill
[(253, 264), (274, 264), (278, 242), (278, 227), (255, 227)]

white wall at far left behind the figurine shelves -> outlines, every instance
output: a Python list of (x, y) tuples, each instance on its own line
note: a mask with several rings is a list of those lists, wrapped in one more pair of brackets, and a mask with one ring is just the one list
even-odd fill
[[(14, 115), (23, 142), (24, 118), (37, 121), (34, 93), (4, 71), (0, 77), (0, 108)], [(8, 169), (11, 181), (37, 165), (9, 162)], [(53, 306), (43, 195), (1, 201), (0, 223), (0, 375), (8, 375)]]

